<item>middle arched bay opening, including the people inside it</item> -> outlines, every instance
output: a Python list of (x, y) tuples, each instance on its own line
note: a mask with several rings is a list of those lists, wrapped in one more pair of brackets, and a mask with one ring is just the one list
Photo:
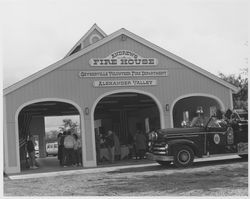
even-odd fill
[[(95, 108), (94, 125), (97, 164), (143, 159), (147, 151), (147, 133), (161, 126), (155, 101), (133, 92), (102, 98)], [(113, 144), (109, 142), (110, 131)], [(110, 150), (110, 144), (114, 145), (114, 151)]]

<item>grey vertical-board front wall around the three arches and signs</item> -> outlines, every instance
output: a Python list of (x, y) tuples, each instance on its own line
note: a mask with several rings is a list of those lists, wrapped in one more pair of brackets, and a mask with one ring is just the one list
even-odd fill
[[(89, 65), (91, 58), (105, 58), (109, 54), (118, 50), (130, 50), (136, 52), (142, 57), (157, 58), (158, 65), (152, 67), (92, 67)], [(95, 80), (120, 80), (133, 78), (80, 78), (80, 71), (87, 70), (156, 70), (167, 69), (167, 77), (144, 77), (140, 79), (156, 79), (158, 84), (150, 87), (106, 87), (94, 88), (93, 81)], [(135, 79), (138, 79), (136, 77)], [(230, 91), (228, 88), (218, 84), (217, 82), (205, 77), (186, 66), (146, 47), (137, 41), (127, 38), (122, 41), (120, 37), (100, 46), (91, 52), (61, 66), (60, 68), (40, 77), (27, 85), (6, 95), (6, 117), (7, 120), (7, 140), (8, 140), (8, 156), (9, 165), (17, 165), (17, 146), (15, 141), (18, 140), (15, 132), (16, 113), (20, 106), (32, 100), (39, 100), (45, 98), (70, 100), (79, 105), (81, 112), (85, 107), (93, 109), (96, 99), (105, 93), (113, 90), (127, 89), (126, 91), (142, 91), (149, 93), (158, 99), (160, 109), (165, 109), (165, 104), (171, 105), (172, 102), (186, 94), (190, 93), (209, 93), (221, 99), (225, 107), (231, 107)], [(170, 107), (171, 108), (171, 107)], [(171, 113), (164, 111), (162, 127), (171, 126)], [(94, 147), (94, 131), (93, 131), (93, 115), (81, 115), (83, 141), (86, 145), (85, 165), (95, 165), (95, 147)]]

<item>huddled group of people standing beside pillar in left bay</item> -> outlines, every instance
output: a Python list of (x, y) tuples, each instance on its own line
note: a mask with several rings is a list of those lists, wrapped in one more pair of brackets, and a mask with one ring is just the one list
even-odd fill
[(71, 131), (64, 131), (57, 136), (58, 160), (61, 166), (82, 165), (82, 145), (77, 134)]

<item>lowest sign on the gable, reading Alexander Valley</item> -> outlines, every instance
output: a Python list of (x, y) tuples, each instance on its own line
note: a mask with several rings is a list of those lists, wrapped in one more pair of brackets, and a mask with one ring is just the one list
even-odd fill
[(107, 80), (94, 81), (94, 87), (114, 87), (114, 86), (155, 86), (157, 80)]

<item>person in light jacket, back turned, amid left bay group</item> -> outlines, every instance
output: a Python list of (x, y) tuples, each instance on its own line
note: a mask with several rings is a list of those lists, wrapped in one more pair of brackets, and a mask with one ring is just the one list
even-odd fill
[(71, 131), (67, 132), (67, 135), (64, 138), (64, 151), (65, 151), (65, 163), (64, 167), (66, 166), (75, 166), (75, 154), (74, 154), (74, 145), (75, 139), (71, 135)]

